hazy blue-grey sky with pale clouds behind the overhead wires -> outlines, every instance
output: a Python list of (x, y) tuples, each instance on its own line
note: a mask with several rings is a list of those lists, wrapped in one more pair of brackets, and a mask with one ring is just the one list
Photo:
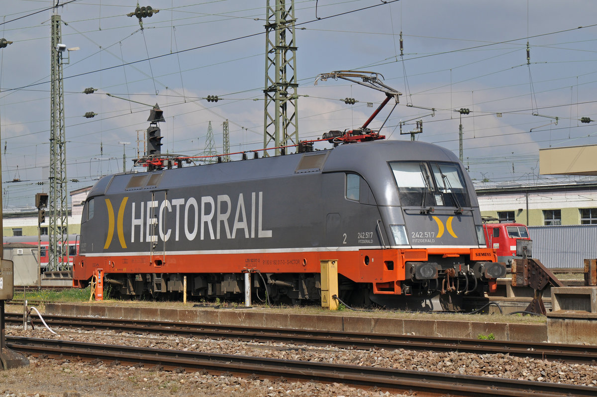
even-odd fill
[[(30, 206), (49, 190), (54, 10), (62, 42), (79, 47), (63, 65), (72, 191), (122, 172), (123, 155), (130, 170), (155, 103), (165, 117), (162, 152), (201, 155), (210, 122), (221, 152), (224, 120), (232, 152), (263, 148), (267, 2), (147, 0), (139, 5), (159, 13), (143, 29), (127, 16), (132, 0), (9, 2), (0, 19), (0, 35), (13, 42), (0, 48), (4, 207)], [(595, 1), (296, 0), (294, 8), (301, 140), (367, 120), (383, 93), (344, 80), (314, 84), (322, 73), (359, 70), (402, 93), (382, 135), (408, 140), (422, 120), (418, 141), (458, 155), (462, 124), (463, 163), (477, 181), (541, 183), (540, 148), (597, 143), (597, 121), (580, 121), (597, 120)], [(96, 91), (82, 93), (88, 87)], [(391, 108), (370, 127), (380, 128)]]

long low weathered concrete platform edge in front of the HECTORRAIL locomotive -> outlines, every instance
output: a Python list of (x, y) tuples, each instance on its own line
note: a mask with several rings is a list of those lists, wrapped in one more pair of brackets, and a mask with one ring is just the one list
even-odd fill
[[(547, 325), (498, 322), (473, 322), (435, 319), (399, 319), (389, 317), (326, 316), (325, 314), (290, 314), (253, 312), (244, 309), (165, 309), (123, 307), (101, 304), (48, 303), (47, 314), (81, 317), (110, 317), (156, 321), (180, 321), (220, 325), (263, 326), (272, 328), (318, 329), (391, 335), (422, 335), (454, 338), (478, 338), (493, 334), (496, 340), (547, 341)], [(424, 317), (424, 316), (423, 316)], [(488, 317), (488, 320), (491, 320)]]

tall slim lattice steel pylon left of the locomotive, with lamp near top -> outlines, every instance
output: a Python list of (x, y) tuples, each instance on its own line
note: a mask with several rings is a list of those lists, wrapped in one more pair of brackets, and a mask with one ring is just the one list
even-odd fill
[[(51, 18), (50, 62), (50, 193), (48, 203), (48, 270), (69, 270), (68, 201), (66, 187), (66, 136), (64, 134), (64, 84), (61, 20), (54, 8)], [(66, 259), (66, 260), (65, 260)]]

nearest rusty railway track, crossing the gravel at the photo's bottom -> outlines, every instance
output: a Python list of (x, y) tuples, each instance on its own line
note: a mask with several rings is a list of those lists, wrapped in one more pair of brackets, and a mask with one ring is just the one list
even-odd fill
[(207, 371), (217, 375), (284, 378), (289, 381), (341, 381), (350, 386), (379, 387), (428, 396), (445, 396), (447, 393), (451, 396), (595, 395), (595, 387), (570, 384), (39, 338), (7, 337), (6, 341), (10, 349), (41, 358), (72, 358), (111, 365)]

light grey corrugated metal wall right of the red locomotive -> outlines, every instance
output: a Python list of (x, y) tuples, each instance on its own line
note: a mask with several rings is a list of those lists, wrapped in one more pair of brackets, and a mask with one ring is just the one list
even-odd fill
[(597, 225), (529, 226), (533, 258), (546, 267), (583, 267), (597, 258)]

